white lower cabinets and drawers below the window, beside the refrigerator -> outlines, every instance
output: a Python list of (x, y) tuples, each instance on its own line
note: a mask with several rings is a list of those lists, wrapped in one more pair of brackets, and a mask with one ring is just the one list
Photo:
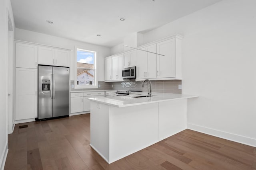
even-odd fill
[(104, 97), (104, 96), (105, 96), (105, 92), (71, 93), (70, 113), (90, 111), (90, 100), (88, 100), (88, 98)]

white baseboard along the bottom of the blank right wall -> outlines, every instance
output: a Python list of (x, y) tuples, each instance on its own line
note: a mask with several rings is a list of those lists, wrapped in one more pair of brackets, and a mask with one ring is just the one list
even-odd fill
[(223, 139), (227, 139), (230, 141), (234, 141), (237, 143), (242, 143), (244, 145), (249, 145), (252, 147), (256, 147), (256, 139), (250, 138), (250, 137), (245, 137), (245, 136), (241, 136), (241, 135), (236, 135), (233, 133), (228, 133), (228, 132), (224, 132), (224, 131), (219, 131), (216, 129), (211, 129), (208, 127), (203, 127), (203, 126), (198, 126), (198, 125), (194, 125), (191, 123), (187, 123), (187, 128), (194, 130), (194, 131), (198, 131), (201, 133), (205, 133), (208, 135), (212, 135), (215, 137), (220, 137)]

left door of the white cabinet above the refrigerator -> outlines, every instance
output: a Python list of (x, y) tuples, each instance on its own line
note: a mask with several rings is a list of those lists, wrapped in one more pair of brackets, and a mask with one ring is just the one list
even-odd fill
[(48, 47), (38, 47), (38, 64), (54, 65), (55, 49)]

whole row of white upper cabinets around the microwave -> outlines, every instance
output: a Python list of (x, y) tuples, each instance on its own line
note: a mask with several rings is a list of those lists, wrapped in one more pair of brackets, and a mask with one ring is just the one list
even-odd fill
[[(105, 59), (105, 81), (122, 80), (119, 76), (122, 74), (122, 69), (132, 66), (136, 66), (136, 80), (138, 81), (145, 79), (181, 80), (182, 39), (180, 35), (173, 35), (142, 45), (137, 50), (107, 57)], [(122, 59), (124, 65), (120, 68)]]

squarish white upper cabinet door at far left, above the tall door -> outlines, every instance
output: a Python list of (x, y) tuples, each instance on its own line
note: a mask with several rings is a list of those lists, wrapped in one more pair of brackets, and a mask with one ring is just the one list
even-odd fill
[(16, 43), (16, 67), (37, 68), (37, 52), (38, 47), (36, 45)]

